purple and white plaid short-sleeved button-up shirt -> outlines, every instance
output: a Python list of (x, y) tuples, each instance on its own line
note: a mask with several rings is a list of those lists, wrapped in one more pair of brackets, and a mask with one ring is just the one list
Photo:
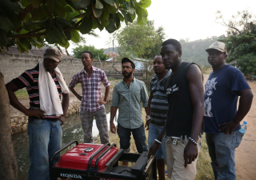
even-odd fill
[(82, 102), (81, 110), (95, 112), (103, 107), (99, 105), (98, 100), (101, 99), (102, 82), (105, 87), (110, 86), (110, 82), (106, 78), (103, 70), (92, 66), (90, 77), (86, 70), (81, 70), (78, 74), (74, 74), (70, 82), (70, 88), (81, 83), (82, 86)]

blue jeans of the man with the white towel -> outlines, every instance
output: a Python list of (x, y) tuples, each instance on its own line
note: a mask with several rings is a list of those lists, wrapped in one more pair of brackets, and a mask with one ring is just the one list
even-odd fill
[[(62, 127), (59, 121), (34, 119), (27, 125), (30, 140), (30, 170), (28, 180), (50, 179), (50, 158), (62, 147)], [(58, 162), (60, 154), (54, 157)]]

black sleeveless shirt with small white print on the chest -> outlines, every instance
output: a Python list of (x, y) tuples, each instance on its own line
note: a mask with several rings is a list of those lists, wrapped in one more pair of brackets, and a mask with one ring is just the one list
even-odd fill
[(182, 62), (178, 71), (171, 74), (167, 79), (166, 94), (169, 110), (166, 121), (166, 136), (190, 136), (194, 112), (189, 82), (186, 78), (190, 65), (190, 62)]

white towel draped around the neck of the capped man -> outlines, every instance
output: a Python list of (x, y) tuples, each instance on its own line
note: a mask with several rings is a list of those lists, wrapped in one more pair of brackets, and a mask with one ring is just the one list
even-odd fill
[[(54, 72), (58, 78), (60, 86), (62, 87), (62, 93), (70, 93), (58, 67), (55, 68)], [(39, 62), (38, 88), (40, 109), (46, 112), (45, 115), (62, 115), (62, 103), (58, 95), (56, 84), (50, 73), (46, 71), (45, 66), (43, 66), (43, 61)]]

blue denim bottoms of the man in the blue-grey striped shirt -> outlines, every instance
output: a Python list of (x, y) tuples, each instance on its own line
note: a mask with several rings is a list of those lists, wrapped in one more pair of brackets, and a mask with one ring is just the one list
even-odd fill
[[(148, 142), (149, 142), (149, 147), (153, 145), (154, 139), (158, 138), (158, 135), (162, 131), (162, 127), (154, 126), (150, 124), (150, 130), (149, 130), (149, 137), (148, 137)], [(165, 139), (162, 139), (162, 145), (159, 146), (155, 158), (158, 159), (165, 159), (166, 162), (166, 141)]]

